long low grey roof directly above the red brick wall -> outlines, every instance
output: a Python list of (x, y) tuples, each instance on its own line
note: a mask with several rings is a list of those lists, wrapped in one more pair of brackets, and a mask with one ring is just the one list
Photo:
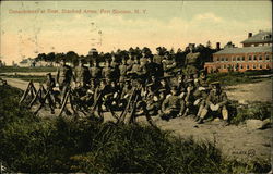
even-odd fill
[(261, 47), (242, 47), (242, 48), (225, 48), (214, 54), (228, 54), (228, 53), (254, 53), (254, 52), (272, 52), (272, 46)]

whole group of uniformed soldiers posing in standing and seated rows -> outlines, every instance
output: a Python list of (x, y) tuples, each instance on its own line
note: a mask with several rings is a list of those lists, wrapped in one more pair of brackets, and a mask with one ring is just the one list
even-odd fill
[[(56, 78), (47, 75), (46, 86), (54, 96), (52, 105), (59, 104), (67, 114), (71, 114), (66, 107), (70, 98), (83, 113), (110, 112), (122, 120), (129, 112), (130, 122), (142, 115), (151, 124), (156, 115), (167, 121), (193, 115), (202, 124), (212, 112), (228, 121), (227, 96), (219, 83), (209, 84), (206, 72), (195, 69), (198, 55), (190, 52), (185, 67), (179, 67), (168, 53), (141, 58), (129, 54), (121, 62), (112, 55), (105, 62), (93, 60), (87, 66), (79, 60), (73, 69), (62, 59)], [(75, 113), (76, 109), (71, 108)], [(117, 116), (116, 111), (122, 111), (121, 115)]]

